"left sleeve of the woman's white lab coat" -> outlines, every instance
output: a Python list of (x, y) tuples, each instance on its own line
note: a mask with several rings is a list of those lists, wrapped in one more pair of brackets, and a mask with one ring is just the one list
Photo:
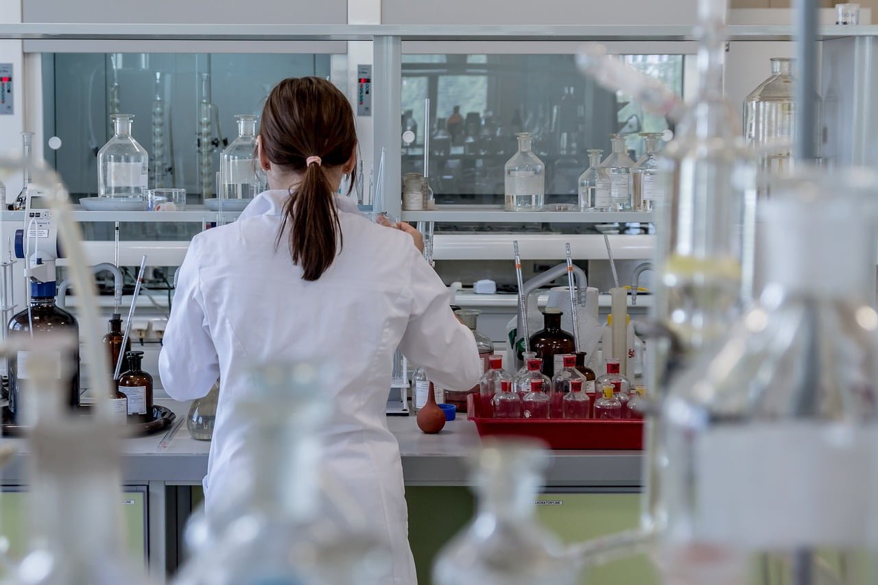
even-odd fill
[(198, 264), (196, 238), (180, 266), (174, 304), (159, 355), (162, 386), (178, 401), (205, 396), (219, 378), (219, 358), (205, 313)]

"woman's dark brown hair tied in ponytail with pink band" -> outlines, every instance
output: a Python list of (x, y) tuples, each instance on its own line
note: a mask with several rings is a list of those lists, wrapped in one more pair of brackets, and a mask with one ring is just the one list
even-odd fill
[[(327, 172), (347, 162), (356, 148), (354, 112), (344, 94), (321, 77), (290, 77), (265, 102), (260, 144), (275, 165), (302, 178), (284, 205), (276, 246), (290, 224), (292, 262), (302, 278), (317, 280), (342, 246), (342, 228)], [(309, 157), (320, 161), (308, 163)], [(356, 170), (351, 171), (356, 175)]]

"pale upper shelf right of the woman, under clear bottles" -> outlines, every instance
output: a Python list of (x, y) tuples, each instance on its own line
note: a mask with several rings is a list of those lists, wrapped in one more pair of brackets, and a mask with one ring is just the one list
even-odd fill
[(438, 206), (431, 211), (404, 211), (403, 221), (439, 223), (613, 223), (653, 221), (649, 212), (507, 212), (503, 206)]

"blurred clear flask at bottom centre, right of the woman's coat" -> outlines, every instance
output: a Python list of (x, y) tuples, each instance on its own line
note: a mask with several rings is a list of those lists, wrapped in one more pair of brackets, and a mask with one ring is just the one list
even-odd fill
[(476, 517), (440, 551), (436, 585), (566, 585), (578, 566), (561, 557), (561, 545), (534, 517), (547, 459), (533, 440), (486, 438), (472, 461)]

